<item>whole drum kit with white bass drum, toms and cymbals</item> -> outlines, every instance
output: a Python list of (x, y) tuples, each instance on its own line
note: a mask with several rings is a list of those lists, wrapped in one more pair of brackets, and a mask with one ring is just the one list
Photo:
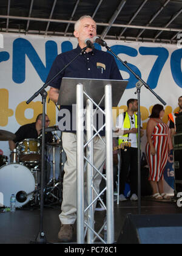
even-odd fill
[[(61, 140), (56, 133), (58, 127), (52, 126), (48, 128), (49, 131), (55, 132), (53, 134), (53, 141), (45, 145), (53, 149), (53, 177), (49, 182), (46, 180), (44, 182), (44, 199), (46, 204), (50, 206), (60, 205), (61, 202), (61, 181), (55, 177), (55, 149), (60, 148), (60, 152), (62, 152), (62, 149)], [(0, 130), (0, 141), (15, 140), (15, 138), (16, 135), (14, 133)], [(0, 193), (3, 195), (3, 202), (0, 202), (0, 206), (10, 207), (10, 197), (12, 194), (16, 196), (16, 207), (18, 208), (24, 205), (40, 205), (40, 177), (40, 138), (25, 139), (19, 142), (10, 155), (10, 163), (8, 163), (8, 157), (0, 155)]]

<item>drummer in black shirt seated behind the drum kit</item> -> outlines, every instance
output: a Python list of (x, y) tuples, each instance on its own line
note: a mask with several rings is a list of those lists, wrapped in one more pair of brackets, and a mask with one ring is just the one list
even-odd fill
[[(45, 115), (45, 128), (50, 124), (50, 119)], [(39, 114), (36, 118), (35, 123), (25, 124), (24, 126), (19, 127), (17, 132), (15, 132), (16, 139), (8, 141), (10, 146), (10, 151), (16, 148), (16, 143), (19, 143), (25, 139), (37, 139), (41, 136), (42, 130), (42, 114)], [(45, 143), (52, 142), (53, 135), (52, 132), (45, 132)]]

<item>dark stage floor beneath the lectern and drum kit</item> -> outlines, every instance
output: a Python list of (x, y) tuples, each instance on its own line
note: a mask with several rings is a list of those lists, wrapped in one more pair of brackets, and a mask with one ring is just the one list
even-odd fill
[[(115, 240), (120, 235), (121, 228), (127, 213), (138, 215), (137, 202), (120, 202), (115, 203)], [(35, 241), (39, 233), (39, 209), (33, 207), (23, 207), (16, 210), (15, 213), (0, 213), (0, 244), (29, 244)], [(58, 232), (60, 228), (59, 207), (44, 208), (43, 230), (47, 241), (50, 243), (58, 243)], [(141, 214), (142, 215), (174, 215), (181, 214), (182, 207), (178, 207), (175, 202), (156, 202), (141, 198)], [(96, 212), (95, 221), (96, 228), (103, 223), (106, 212)], [(74, 231), (74, 242), (76, 243), (76, 224)]]

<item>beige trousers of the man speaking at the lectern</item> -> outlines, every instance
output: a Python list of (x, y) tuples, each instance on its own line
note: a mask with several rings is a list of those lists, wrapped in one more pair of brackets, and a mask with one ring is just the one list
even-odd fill
[[(105, 137), (102, 137), (105, 141)], [(64, 164), (64, 180), (61, 214), (59, 219), (62, 224), (74, 224), (76, 221), (76, 134), (62, 132), (62, 147), (67, 155), (67, 161)], [(106, 146), (99, 137), (93, 141), (93, 164), (96, 168), (102, 165), (106, 158)], [(103, 171), (101, 166), (100, 171)], [(98, 175), (94, 180), (94, 187), (99, 192), (99, 184), (102, 177)], [(86, 194), (84, 194), (86, 197)]]

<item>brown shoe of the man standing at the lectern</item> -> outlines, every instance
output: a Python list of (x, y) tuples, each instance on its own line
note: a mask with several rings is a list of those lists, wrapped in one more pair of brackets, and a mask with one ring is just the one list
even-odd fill
[(58, 239), (61, 242), (69, 243), (73, 241), (73, 225), (61, 224), (61, 229), (58, 233)]

